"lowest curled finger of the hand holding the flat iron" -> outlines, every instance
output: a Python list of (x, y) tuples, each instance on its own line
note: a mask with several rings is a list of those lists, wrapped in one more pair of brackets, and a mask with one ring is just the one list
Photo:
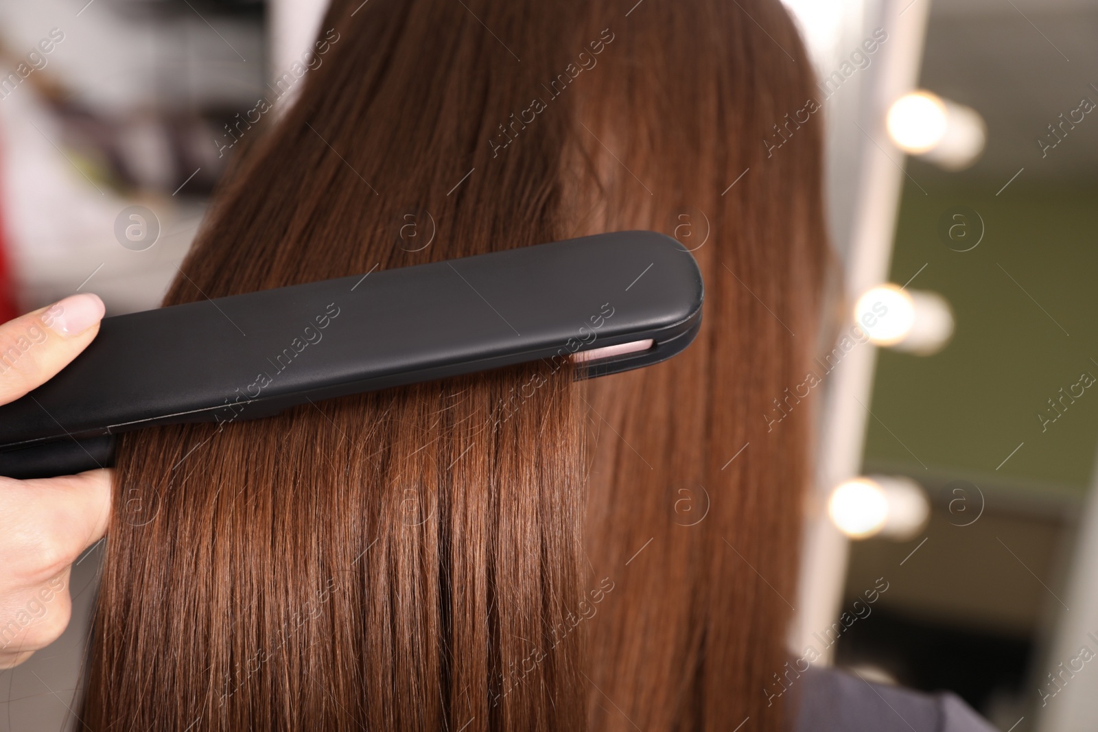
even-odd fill
[(65, 632), (72, 616), (71, 572), (66, 567), (49, 582), (0, 597), (0, 668), (25, 661)]

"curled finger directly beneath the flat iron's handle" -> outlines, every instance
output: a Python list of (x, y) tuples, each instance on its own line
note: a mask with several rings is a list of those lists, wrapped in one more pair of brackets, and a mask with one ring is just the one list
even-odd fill
[(111, 516), (110, 470), (0, 481), (0, 594), (60, 574), (103, 538)]

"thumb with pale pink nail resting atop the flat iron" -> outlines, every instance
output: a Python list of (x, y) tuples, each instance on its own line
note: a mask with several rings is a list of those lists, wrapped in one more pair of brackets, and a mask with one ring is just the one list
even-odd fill
[(103, 301), (70, 295), (0, 325), (0, 404), (49, 381), (99, 333)]

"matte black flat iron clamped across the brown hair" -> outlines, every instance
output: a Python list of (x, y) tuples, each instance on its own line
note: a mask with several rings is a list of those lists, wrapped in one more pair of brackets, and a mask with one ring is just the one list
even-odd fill
[(702, 323), (702, 274), (654, 232), (600, 234), (103, 318), (0, 406), (0, 475), (112, 464), (114, 436), (538, 360), (581, 379), (659, 363)]

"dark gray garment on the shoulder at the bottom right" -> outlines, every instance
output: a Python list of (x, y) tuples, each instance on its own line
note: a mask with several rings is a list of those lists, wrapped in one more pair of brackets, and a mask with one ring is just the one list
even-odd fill
[(795, 732), (996, 732), (952, 691), (923, 694), (811, 667), (800, 688)]

